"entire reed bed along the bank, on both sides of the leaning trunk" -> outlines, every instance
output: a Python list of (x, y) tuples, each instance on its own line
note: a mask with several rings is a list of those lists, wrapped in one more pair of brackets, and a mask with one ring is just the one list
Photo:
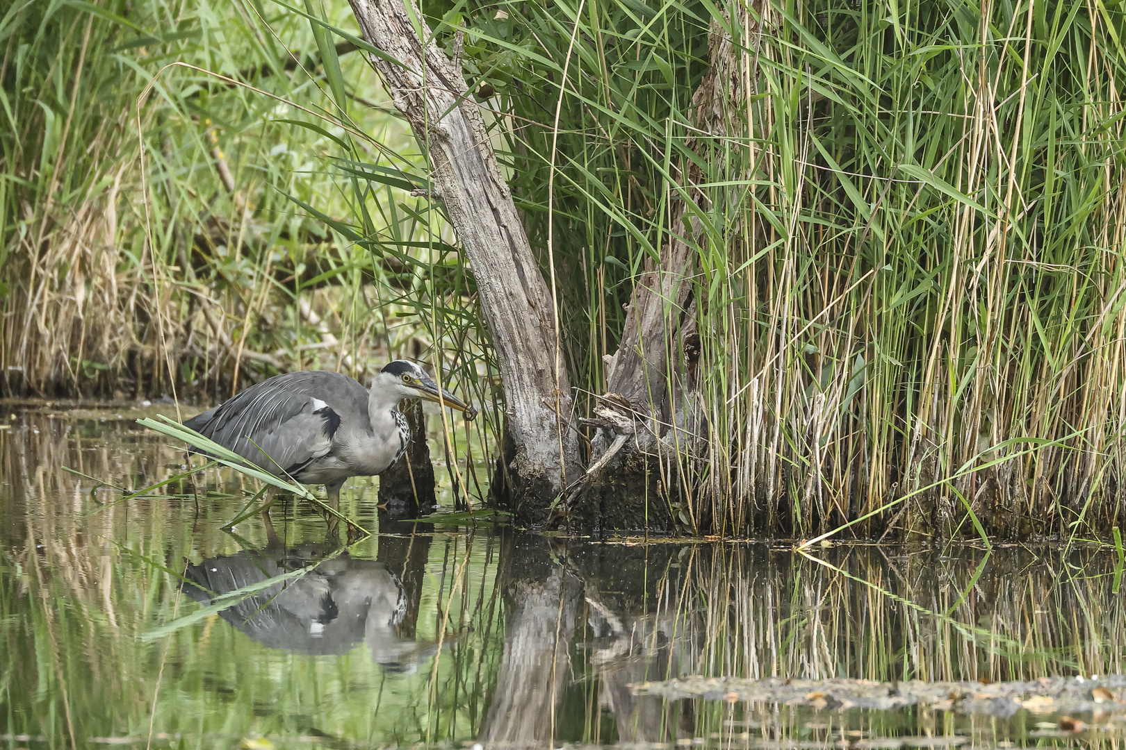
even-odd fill
[[(636, 280), (691, 247), (667, 341), (685, 440), (652, 500), (685, 530), (1120, 521), (1117, 8), (423, 9), (557, 287), (580, 416)], [(171, 395), (170, 356), (226, 395), (406, 353), (498, 405), (473, 271), (409, 195), (426, 162), (343, 2), (54, 0), (0, 29), (9, 392)], [(257, 91), (153, 78), (173, 60)]]

